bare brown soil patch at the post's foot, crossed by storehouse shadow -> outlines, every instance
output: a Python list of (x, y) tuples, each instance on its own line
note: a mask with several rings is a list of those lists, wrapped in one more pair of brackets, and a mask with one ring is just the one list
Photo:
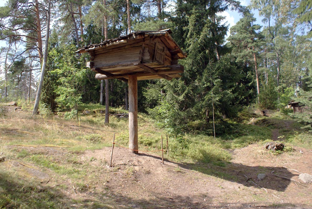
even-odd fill
[[(298, 179), (299, 172), (312, 173), (306, 163), (312, 162), (311, 150), (275, 156), (260, 145), (250, 145), (235, 150), (225, 167), (170, 161), (162, 165), (157, 155), (135, 155), (117, 147), (109, 168), (110, 153), (109, 147), (87, 151), (81, 160), (106, 167), (106, 187), (122, 205), (129, 206), (131, 200), (130, 206), (136, 208), (312, 207), (311, 184)], [(259, 180), (259, 173), (265, 173), (265, 179)]]

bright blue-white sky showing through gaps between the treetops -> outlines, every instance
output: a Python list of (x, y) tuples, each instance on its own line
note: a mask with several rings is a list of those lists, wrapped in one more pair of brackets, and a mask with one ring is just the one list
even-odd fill
[[(0, 0), (0, 7), (4, 6), (5, 3), (7, 2), (7, 0)], [(243, 6), (248, 6), (250, 4), (250, 0), (240, 0), (241, 5)], [(259, 17), (259, 13), (257, 10), (253, 10), (252, 11), (254, 13), (254, 17), (257, 19), (256, 20), (256, 24), (259, 25), (263, 25), (263, 23), (261, 22), (261, 17)], [(224, 22), (227, 22), (229, 24), (229, 28), (231, 28), (232, 26), (234, 26), (236, 24), (236, 22), (239, 21), (239, 19), (241, 18), (240, 14), (236, 11), (226, 11), (226, 12), (222, 12), (220, 15), (224, 16)], [(222, 23), (224, 23), (222, 22)], [(230, 30), (227, 33), (227, 37), (230, 35)], [(4, 41), (0, 41), (0, 47), (4, 47), (6, 44)]]

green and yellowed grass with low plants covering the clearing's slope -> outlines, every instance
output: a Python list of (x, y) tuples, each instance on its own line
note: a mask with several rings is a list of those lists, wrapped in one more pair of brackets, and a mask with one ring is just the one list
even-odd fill
[[(27, 107), (17, 113), (5, 112), (5, 117), (0, 117), (0, 148), (7, 159), (34, 164), (42, 171), (52, 173), (58, 181), (56, 184), (58, 186), (50, 188), (19, 175), (13, 169), (0, 169), (0, 208), (70, 208), (73, 207), (71, 205), (76, 205), (76, 208), (93, 208), (111, 207), (111, 204), (114, 206), (114, 203), (110, 202), (91, 204), (75, 199), (68, 200), (64, 199), (62, 194), (62, 188), (69, 187), (68, 183), (65, 183), (68, 181), (70, 187), (73, 187), (73, 192), (93, 191), (96, 190), (97, 185), (105, 185), (105, 182), (109, 181), (108, 174), (102, 170), (102, 167), (90, 166), (92, 163), (103, 165), (107, 163), (94, 157), (81, 162), (79, 159), (82, 153), (110, 147), (114, 132), (116, 143), (122, 146), (127, 146), (129, 143), (127, 118), (111, 115), (110, 125), (106, 126), (104, 106), (82, 104), (79, 110), (79, 122), (66, 121), (61, 114), (45, 118), (32, 116), (31, 111), (27, 111)], [(82, 114), (84, 110), (89, 110), (90, 113)], [(252, 111), (245, 110), (241, 118), (236, 121), (218, 121), (216, 138), (212, 134), (208, 136), (192, 133), (178, 138), (169, 137), (169, 160), (183, 162), (191, 169), (207, 175), (237, 181), (237, 175), (235, 173), (232, 175), (227, 170), (232, 158), (230, 150), (246, 147), (251, 143), (263, 144), (271, 141), (271, 133), (274, 129), (278, 129), (280, 135), (283, 135), (279, 138), (286, 144), (283, 153), (291, 153), (293, 146), (309, 149), (312, 147), (310, 133), (301, 130), (298, 123), (289, 117), (275, 114), (274, 117), (267, 118)], [(127, 111), (121, 108), (110, 108), (111, 114), (124, 112)], [(195, 123), (193, 125), (197, 126), (202, 122)], [(198, 133), (211, 133), (209, 130), (201, 130)], [(161, 135), (166, 150), (166, 132), (158, 129), (147, 115), (139, 114), (139, 149), (161, 149)], [(44, 150), (39, 149), (44, 146), (59, 147), (65, 154), (47, 155)], [(160, 156), (160, 153), (155, 154)], [(111, 172), (118, 172), (119, 169), (120, 167), (116, 166)], [(173, 171), (182, 173), (180, 167)], [(125, 169), (124, 175), (129, 178), (134, 175), (134, 172), (134, 167), (129, 166)]]

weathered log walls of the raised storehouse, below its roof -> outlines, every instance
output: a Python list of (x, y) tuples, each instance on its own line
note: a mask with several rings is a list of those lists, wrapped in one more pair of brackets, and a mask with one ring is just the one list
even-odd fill
[[(166, 44), (164, 42), (166, 42)], [(91, 62), (87, 63), (87, 67), (90, 67), (95, 72), (106, 72), (105, 75), (96, 75), (96, 78), (99, 80), (119, 79), (122, 77), (128, 79), (131, 74), (137, 74), (138, 80), (180, 77), (178, 73), (183, 72), (183, 67), (181, 68), (181, 66), (177, 65), (179, 57), (177, 53), (175, 53), (175, 49), (166, 46), (170, 45), (170, 43), (171, 42), (166, 41), (165, 37), (144, 37), (142, 39), (128, 40), (128, 42), (122, 43), (118, 47), (116, 47), (116, 45), (111, 45), (105, 48), (97, 48), (89, 52), (91, 55)], [(155, 60), (156, 45), (157, 48), (164, 51), (161, 52), (164, 53), (162, 54), (162, 56), (164, 56), (163, 62), (161, 62), (159, 58)], [(155, 72), (161, 70), (169, 71), (160, 72), (161, 75), (157, 76), (155, 73), (153, 74), (150, 73), (151, 71), (146, 70), (147, 68), (144, 66), (140, 67), (140, 63), (155, 69)], [(170, 72), (172, 65), (177, 65), (177, 72)], [(99, 69), (102, 71), (99, 71)]]

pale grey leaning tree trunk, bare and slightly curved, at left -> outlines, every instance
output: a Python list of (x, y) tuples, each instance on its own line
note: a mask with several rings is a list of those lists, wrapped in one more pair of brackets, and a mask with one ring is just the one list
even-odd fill
[(51, 0), (48, 0), (48, 10), (47, 10), (47, 17), (46, 17), (46, 40), (45, 40), (45, 44), (44, 44), (44, 55), (43, 55), (43, 62), (42, 62), (42, 67), (41, 67), (41, 76), (40, 76), (40, 81), (39, 81), (39, 85), (38, 85), (34, 110), (32, 112), (33, 115), (38, 114), (38, 107), (39, 107), (39, 101), (40, 101), (42, 86), (43, 86), (43, 79), (44, 79), (44, 74), (46, 72), (46, 58), (48, 56), (50, 17), (51, 17)]

